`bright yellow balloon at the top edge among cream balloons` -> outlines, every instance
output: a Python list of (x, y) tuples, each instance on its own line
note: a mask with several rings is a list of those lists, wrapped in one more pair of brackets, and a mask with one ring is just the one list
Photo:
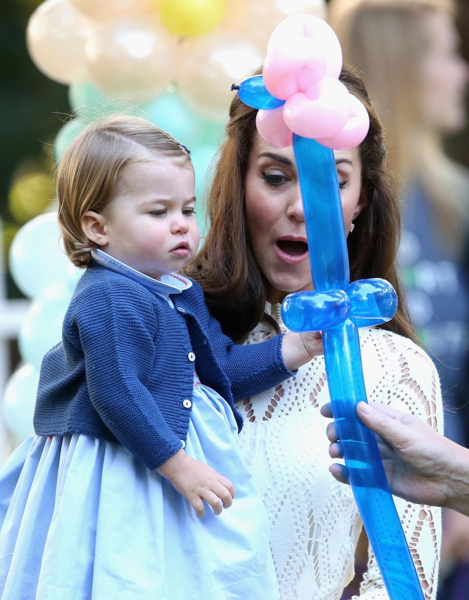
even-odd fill
[(226, 0), (160, 0), (161, 22), (168, 31), (182, 37), (211, 31), (223, 19), (225, 10)]

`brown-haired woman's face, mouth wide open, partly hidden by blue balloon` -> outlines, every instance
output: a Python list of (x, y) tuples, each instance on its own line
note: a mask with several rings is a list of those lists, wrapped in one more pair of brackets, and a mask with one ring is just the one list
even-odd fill
[[(362, 163), (358, 148), (334, 155), (348, 235), (366, 202)], [(290, 292), (313, 289), (293, 147), (275, 148), (255, 134), (245, 187), (246, 227), (266, 280), (267, 300), (281, 302)]]

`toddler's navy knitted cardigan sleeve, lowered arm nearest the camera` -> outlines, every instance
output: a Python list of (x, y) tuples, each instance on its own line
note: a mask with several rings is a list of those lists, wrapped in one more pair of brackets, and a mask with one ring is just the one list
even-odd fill
[(147, 388), (157, 319), (140, 286), (103, 278), (75, 299), (92, 405), (106, 427), (149, 469), (181, 448)]

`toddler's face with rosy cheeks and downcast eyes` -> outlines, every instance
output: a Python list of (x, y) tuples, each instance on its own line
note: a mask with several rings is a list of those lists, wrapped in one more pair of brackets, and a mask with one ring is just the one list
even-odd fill
[(157, 280), (182, 269), (199, 247), (194, 181), (190, 164), (168, 158), (125, 166), (104, 215), (101, 249)]

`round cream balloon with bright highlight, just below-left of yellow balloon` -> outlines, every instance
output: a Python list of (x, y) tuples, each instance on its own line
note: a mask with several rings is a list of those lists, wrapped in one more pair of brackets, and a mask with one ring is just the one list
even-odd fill
[(89, 38), (85, 55), (91, 79), (104, 94), (145, 102), (172, 82), (176, 40), (155, 19), (118, 19)]

